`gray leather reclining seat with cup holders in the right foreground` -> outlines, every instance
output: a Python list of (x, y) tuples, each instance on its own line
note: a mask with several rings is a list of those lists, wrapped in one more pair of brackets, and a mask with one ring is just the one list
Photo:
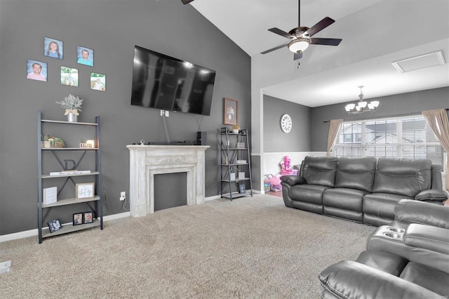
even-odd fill
[(322, 298), (449, 298), (449, 206), (402, 199), (356, 261), (319, 280)]

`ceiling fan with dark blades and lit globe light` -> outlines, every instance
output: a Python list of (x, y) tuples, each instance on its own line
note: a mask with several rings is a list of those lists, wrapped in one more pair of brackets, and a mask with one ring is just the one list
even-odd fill
[(312, 38), (311, 36), (314, 36), (316, 33), (320, 32), (324, 28), (331, 25), (335, 20), (326, 17), (323, 18), (323, 20), (317, 22), (315, 25), (313, 25), (311, 28), (309, 27), (301, 27), (300, 25), (300, 17), (301, 17), (301, 5), (300, 0), (298, 2), (298, 27), (291, 29), (288, 33), (284, 32), (283, 30), (279, 28), (270, 28), (268, 31), (271, 31), (273, 33), (279, 34), (281, 36), (286, 37), (287, 39), (290, 39), (287, 44), (282, 44), (280, 46), (276, 46), (274, 48), (271, 48), (267, 51), (263, 51), (261, 54), (267, 54), (269, 52), (275, 51), (277, 49), (283, 48), (284, 46), (287, 46), (290, 51), (295, 53), (293, 56), (293, 60), (297, 60), (302, 58), (302, 52), (309, 47), (310, 44), (312, 45), (326, 45), (326, 46), (338, 46), (340, 44), (340, 41), (342, 39), (321, 39), (321, 38)]

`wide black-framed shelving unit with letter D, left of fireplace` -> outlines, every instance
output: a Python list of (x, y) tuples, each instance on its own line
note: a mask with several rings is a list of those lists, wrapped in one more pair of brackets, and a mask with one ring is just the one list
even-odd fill
[[(41, 145), (42, 127), (43, 126), (87, 126), (95, 128), (95, 146), (93, 147), (50, 147), (43, 148)], [(65, 165), (62, 163), (59, 154), (62, 152), (81, 152), (81, 156), (75, 161), (77, 166), (79, 162), (85, 157), (88, 152), (95, 152), (95, 171), (91, 170), (91, 173), (74, 173), (74, 174), (60, 174), (60, 175), (50, 175), (43, 174), (43, 154), (53, 154), (53, 157), (58, 161), (60, 168), (55, 170), (65, 171)], [(95, 123), (83, 123), (83, 122), (69, 122), (69, 121), (55, 121), (50, 119), (42, 119), (41, 111), (37, 112), (37, 175), (38, 175), (38, 231), (39, 231), (39, 244), (42, 243), (44, 238), (58, 236), (60, 234), (68, 234), (70, 232), (76, 232), (79, 230), (86, 230), (91, 227), (100, 227), (103, 229), (103, 204), (102, 204), (102, 171), (101, 171), (101, 155), (100, 155), (100, 117), (95, 117)], [(76, 178), (78, 177), (95, 177), (95, 194), (93, 197), (86, 198), (59, 198), (60, 191), (66, 187), (67, 183), (72, 182), (76, 185)], [(55, 183), (60, 185), (58, 188), (57, 201), (51, 204), (43, 204), (43, 180), (54, 180)], [(50, 232), (46, 223), (51, 221), (51, 219), (46, 219), (46, 216), (51, 208), (58, 208), (61, 206), (67, 206), (71, 204), (85, 203), (88, 208), (93, 212), (93, 220), (91, 223), (86, 223), (82, 225), (73, 225), (72, 223), (67, 223), (62, 225), (60, 230), (55, 232)], [(45, 223), (44, 223), (45, 222)]]

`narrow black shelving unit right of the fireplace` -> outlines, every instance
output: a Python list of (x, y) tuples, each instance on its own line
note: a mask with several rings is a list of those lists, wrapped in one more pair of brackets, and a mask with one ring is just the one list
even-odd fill
[(231, 200), (239, 197), (252, 197), (253, 179), (251, 177), (248, 131), (241, 129), (239, 133), (233, 133), (228, 130), (228, 128), (220, 129), (222, 152), (220, 195), (222, 198)]

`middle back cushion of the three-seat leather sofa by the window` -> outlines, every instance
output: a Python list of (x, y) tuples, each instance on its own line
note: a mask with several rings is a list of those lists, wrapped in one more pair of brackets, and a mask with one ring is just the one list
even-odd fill
[(375, 169), (375, 157), (342, 157), (335, 174), (335, 187), (371, 192), (373, 190)]

